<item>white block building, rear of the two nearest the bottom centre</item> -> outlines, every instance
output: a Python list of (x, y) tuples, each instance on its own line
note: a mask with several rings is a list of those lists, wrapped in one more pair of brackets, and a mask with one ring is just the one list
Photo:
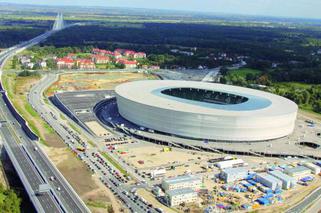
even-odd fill
[(193, 190), (201, 187), (202, 180), (192, 175), (178, 176), (174, 178), (164, 179), (162, 188), (164, 191), (191, 188)]

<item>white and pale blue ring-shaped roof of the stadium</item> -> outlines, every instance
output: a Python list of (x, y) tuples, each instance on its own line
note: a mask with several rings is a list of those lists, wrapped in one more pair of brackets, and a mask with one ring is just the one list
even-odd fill
[[(162, 93), (175, 88), (203, 89), (245, 97), (239, 104), (207, 103)], [(169, 110), (224, 116), (273, 116), (297, 111), (297, 105), (281, 96), (244, 87), (196, 81), (149, 80), (135, 81), (116, 87), (116, 93), (137, 103)]]

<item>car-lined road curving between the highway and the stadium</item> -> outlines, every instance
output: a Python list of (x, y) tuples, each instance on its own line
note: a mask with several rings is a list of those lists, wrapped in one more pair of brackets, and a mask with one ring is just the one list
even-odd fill
[[(144, 203), (143, 200), (136, 198), (136, 195), (130, 192), (130, 189), (133, 188), (132, 186), (123, 183), (117, 178), (117, 175), (115, 175), (117, 169), (100, 156), (97, 148), (90, 148), (87, 140), (69, 128), (68, 122), (60, 118), (60, 112), (44, 102), (43, 92), (57, 80), (57, 76), (56, 73), (46, 74), (36, 85), (34, 85), (28, 94), (29, 103), (72, 150), (77, 150), (77, 147), (86, 148), (86, 151), (84, 153), (79, 153), (78, 157), (90, 170), (99, 175), (100, 180), (110, 188), (115, 196), (117, 196), (127, 208), (132, 212), (156, 212), (155, 209), (150, 208), (148, 204)], [(94, 138), (90, 139), (94, 141)], [(128, 168), (125, 167), (125, 169), (127, 170)]]

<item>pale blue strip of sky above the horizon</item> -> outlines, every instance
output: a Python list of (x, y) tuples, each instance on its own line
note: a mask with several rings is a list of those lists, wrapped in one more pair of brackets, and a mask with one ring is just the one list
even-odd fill
[(277, 17), (321, 18), (321, 0), (0, 0), (0, 2), (172, 9)]

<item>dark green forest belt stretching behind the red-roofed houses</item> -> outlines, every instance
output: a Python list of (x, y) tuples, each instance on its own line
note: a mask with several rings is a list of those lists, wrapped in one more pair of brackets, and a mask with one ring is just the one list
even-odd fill
[[(163, 55), (163, 67), (200, 64), (209, 68), (228, 64), (215, 61), (219, 53), (247, 57), (250, 68), (268, 71), (276, 81), (321, 83), (321, 29), (215, 26), (206, 24), (144, 23), (141, 27), (77, 26), (57, 33), (44, 46), (106, 49), (118, 47)], [(170, 52), (190, 50), (193, 56)], [(172, 56), (175, 56), (174, 58)], [(169, 58), (169, 60), (166, 60)]]

